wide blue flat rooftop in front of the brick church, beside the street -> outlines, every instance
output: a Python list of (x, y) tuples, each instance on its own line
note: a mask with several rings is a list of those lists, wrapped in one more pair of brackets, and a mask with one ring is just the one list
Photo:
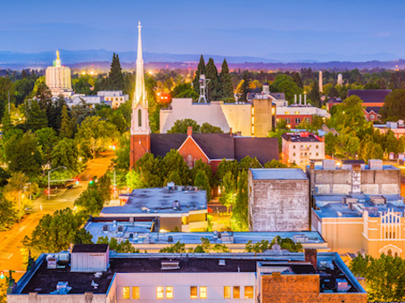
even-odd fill
[[(179, 207), (174, 207), (174, 202)], [(206, 210), (206, 192), (176, 186), (136, 189), (128, 195), (128, 201), (123, 206), (105, 207), (101, 214), (182, 214), (193, 210)]]

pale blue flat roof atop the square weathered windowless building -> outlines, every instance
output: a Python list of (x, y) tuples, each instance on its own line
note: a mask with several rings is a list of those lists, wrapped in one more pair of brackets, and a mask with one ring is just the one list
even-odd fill
[(301, 168), (251, 168), (253, 180), (308, 180)]

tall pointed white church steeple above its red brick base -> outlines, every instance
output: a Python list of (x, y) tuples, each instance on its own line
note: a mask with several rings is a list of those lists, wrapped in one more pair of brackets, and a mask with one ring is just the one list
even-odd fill
[(136, 84), (132, 102), (131, 135), (149, 135), (148, 103), (145, 92), (144, 60), (142, 59), (141, 21), (138, 22)]

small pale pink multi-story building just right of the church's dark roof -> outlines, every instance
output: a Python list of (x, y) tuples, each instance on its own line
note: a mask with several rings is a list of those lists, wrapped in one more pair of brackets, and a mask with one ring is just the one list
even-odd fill
[(282, 160), (305, 167), (311, 160), (325, 159), (324, 138), (309, 132), (285, 133), (281, 135)]

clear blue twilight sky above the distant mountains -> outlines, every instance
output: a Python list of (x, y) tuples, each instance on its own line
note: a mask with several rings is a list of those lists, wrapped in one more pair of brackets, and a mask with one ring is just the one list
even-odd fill
[(0, 11), (0, 51), (133, 51), (141, 20), (146, 52), (405, 58), (402, 0), (0, 0)]

